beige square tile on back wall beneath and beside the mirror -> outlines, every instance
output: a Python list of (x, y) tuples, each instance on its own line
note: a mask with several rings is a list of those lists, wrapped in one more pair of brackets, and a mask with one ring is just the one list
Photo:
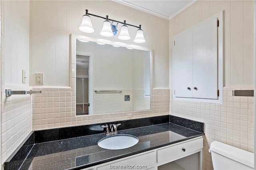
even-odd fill
[[(168, 88), (152, 90), (150, 110), (83, 116), (75, 115), (75, 92), (71, 88), (33, 87), (33, 90), (42, 90), (42, 94), (33, 94), (33, 130), (169, 114)], [(128, 114), (132, 114), (132, 117), (128, 117)]]

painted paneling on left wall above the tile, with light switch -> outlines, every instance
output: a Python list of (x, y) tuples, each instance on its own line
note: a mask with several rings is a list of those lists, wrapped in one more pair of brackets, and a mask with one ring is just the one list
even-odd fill
[[(13, 0), (3, 4), (2, 86), (29, 86), (30, 2)], [(26, 71), (26, 84), (22, 84), (22, 69)]]

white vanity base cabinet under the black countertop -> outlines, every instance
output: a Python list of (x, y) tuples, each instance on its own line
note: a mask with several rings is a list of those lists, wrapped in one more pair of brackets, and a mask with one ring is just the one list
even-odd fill
[[(187, 141), (168, 145), (166, 147), (149, 150), (147, 152), (135, 154), (126, 158), (85, 168), (83, 170), (121, 170), (126, 169), (123, 167), (121, 168), (121, 166), (127, 165), (130, 166), (130, 168), (127, 169), (141, 170), (164, 170), (166, 167), (168, 167), (168, 169), (180, 167), (182, 170), (189, 170), (188, 167), (193, 167), (194, 170), (202, 170), (202, 148), (203, 138), (197, 137)], [(118, 166), (120, 168), (118, 168)], [(131, 168), (131, 166), (144, 167)]]

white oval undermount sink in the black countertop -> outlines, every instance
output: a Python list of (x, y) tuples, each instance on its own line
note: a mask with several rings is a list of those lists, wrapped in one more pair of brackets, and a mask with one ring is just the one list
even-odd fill
[(133, 135), (117, 134), (104, 137), (98, 141), (98, 145), (104, 149), (126, 149), (138, 143), (139, 139)]

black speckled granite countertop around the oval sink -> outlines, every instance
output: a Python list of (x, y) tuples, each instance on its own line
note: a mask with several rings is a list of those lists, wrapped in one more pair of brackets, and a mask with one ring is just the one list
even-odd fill
[[(176, 117), (173, 118), (176, 119)], [(20, 170), (83, 169), (204, 135), (203, 123), (198, 124), (200, 130), (196, 131), (198, 127), (192, 128), (196, 130), (188, 128), (188, 126), (193, 125), (194, 121), (192, 124), (190, 120), (187, 123), (181, 119), (175, 121), (175, 124), (173, 121), (170, 122), (119, 130), (118, 134), (130, 134), (139, 139), (136, 145), (127, 149), (108, 150), (100, 148), (97, 143), (106, 137), (104, 133), (26, 145), (28, 146), (25, 147), (28, 154), (24, 161), (18, 162), (17, 158), (15, 160), (15, 156), (22, 157), (17, 156), (17, 153), (10, 162), (5, 163), (5, 169), (14, 170), (17, 168), (15, 164), (21, 165), (17, 168)]]

